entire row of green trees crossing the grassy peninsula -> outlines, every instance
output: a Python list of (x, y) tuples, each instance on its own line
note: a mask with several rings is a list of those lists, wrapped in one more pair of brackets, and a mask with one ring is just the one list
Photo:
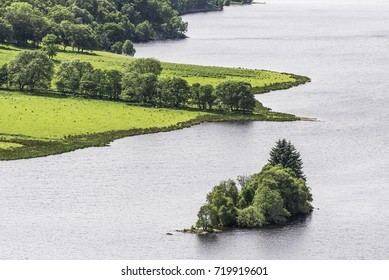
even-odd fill
[(252, 86), (241, 81), (189, 85), (180, 77), (161, 77), (162, 64), (141, 58), (124, 71), (95, 69), (90, 62), (63, 61), (56, 73), (45, 51), (21, 51), (0, 68), (0, 86), (21, 91), (48, 90), (55, 75), (59, 92), (122, 100), (134, 104), (251, 113), (256, 106)]

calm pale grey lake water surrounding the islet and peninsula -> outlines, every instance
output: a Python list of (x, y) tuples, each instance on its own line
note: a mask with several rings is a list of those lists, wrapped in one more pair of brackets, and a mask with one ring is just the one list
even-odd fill
[[(320, 122), (204, 124), (0, 162), (0, 258), (389, 259), (389, 5), (331, 2), (190, 15), (190, 39), (137, 48), (139, 57), (307, 75), (308, 85), (258, 98)], [(257, 172), (281, 137), (305, 163), (318, 208), (308, 219), (166, 235), (195, 222), (220, 180)]]

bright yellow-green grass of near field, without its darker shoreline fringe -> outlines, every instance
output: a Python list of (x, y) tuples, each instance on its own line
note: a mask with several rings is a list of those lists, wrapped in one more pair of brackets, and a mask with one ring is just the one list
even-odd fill
[(49, 98), (1, 91), (0, 108), (1, 133), (21, 134), (37, 139), (167, 127), (206, 114), (143, 108), (111, 101)]

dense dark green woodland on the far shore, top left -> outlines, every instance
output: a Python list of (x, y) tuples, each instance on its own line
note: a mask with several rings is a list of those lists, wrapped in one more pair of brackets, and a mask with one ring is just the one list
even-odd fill
[(119, 52), (127, 40), (185, 37), (179, 14), (222, 7), (221, 0), (0, 0), (0, 43), (37, 46), (53, 34), (64, 49)]

